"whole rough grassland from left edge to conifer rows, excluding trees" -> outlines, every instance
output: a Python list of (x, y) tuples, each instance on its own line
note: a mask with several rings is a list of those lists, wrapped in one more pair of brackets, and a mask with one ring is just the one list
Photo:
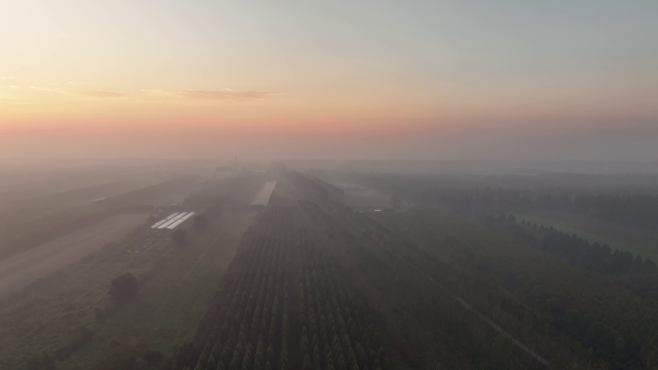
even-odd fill
[[(163, 230), (149, 228), (147, 233), (164, 238), (156, 239), (148, 250), (128, 253), (138, 242), (126, 238), (1, 303), (0, 369), (20, 368), (24, 359), (44, 350), (53, 354), (79, 325), (94, 332), (93, 340), (68, 359), (82, 369), (93, 368), (93, 360), (107, 349), (111, 338), (149, 342), (152, 348), (166, 351), (190, 340), (255, 214), (222, 214), (207, 232), (195, 235), (190, 230), (186, 248), (172, 246)], [(138, 278), (138, 296), (114, 307), (109, 302), (109, 283), (126, 272)], [(95, 308), (105, 311), (104, 323), (96, 322)]]

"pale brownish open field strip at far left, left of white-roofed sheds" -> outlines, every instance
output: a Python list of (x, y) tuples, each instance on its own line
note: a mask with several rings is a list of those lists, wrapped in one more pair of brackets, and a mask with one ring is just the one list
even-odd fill
[(0, 261), (0, 298), (122, 238), (147, 219), (118, 215)]

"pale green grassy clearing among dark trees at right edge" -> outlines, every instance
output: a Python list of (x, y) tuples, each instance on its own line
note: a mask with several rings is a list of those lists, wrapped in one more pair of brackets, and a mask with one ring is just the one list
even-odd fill
[[(603, 223), (594, 220), (569, 215), (515, 213), (515, 217), (517, 217), (519, 223), (525, 220), (526, 222), (536, 223), (537, 226), (553, 226), (553, 228), (562, 232), (576, 234), (580, 238), (587, 239), (590, 243), (607, 244), (613, 251), (628, 251), (633, 256), (640, 255), (643, 258), (658, 261), (658, 251), (647, 245), (650, 242), (642, 242), (643, 237), (638, 238), (638, 231), (636, 230), (624, 230), (621, 226), (603, 225)], [(649, 238), (651, 236), (644, 236), (644, 240)]]

